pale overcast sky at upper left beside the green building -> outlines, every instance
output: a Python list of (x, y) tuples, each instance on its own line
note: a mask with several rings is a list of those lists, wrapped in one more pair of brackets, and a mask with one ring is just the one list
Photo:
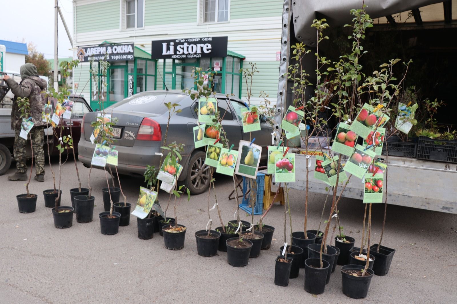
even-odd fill
[[(59, 0), (58, 5), (73, 36), (72, 0)], [(46, 58), (54, 57), (54, 0), (0, 0), (0, 39), (33, 42)], [(58, 25), (58, 57), (73, 56), (71, 44), (60, 20)]]

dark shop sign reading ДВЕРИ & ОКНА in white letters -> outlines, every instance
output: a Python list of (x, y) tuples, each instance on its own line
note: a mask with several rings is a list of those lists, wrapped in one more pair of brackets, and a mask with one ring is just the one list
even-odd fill
[(78, 47), (76, 57), (80, 62), (133, 60), (133, 43)]

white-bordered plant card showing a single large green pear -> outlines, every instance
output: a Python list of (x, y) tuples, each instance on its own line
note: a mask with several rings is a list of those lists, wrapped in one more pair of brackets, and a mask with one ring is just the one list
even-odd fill
[(262, 147), (248, 141), (239, 141), (238, 147), (239, 157), (236, 161), (235, 173), (247, 178), (256, 178)]

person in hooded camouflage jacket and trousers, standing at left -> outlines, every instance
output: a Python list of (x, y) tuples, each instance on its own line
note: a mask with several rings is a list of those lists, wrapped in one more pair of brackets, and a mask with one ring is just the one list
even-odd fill
[(30, 130), (30, 138), (32, 139), (33, 155), (35, 156), (35, 168), (37, 181), (44, 181), (44, 127), (46, 123), (42, 121), (42, 112), (44, 108), (43, 90), (46, 89), (47, 83), (39, 78), (37, 67), (33, 63), (26, 63), (21, 66), (22, 81), (18, 84), (8, 76), (4, 76), (3, 80), (10, 86), (11, 92), (14, 94), (13, 109), (11, 110), (11, 129), (15, 131), (14, 138), (14, 158), (16, 160), (17, 172), (8, 176), (9, 180), (27, 180), (27, 141), (19, 137), (21, 133), (21, 112), (17, 106), (16, 99), (18, 97), (27, 97), (30, 101), (30, 111), (32, 121), (34, 122), (32, 130)]

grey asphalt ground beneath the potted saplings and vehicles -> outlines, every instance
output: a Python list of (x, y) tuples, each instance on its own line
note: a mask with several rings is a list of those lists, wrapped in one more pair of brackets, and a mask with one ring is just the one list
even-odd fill
[[(58, 178), (58, 162), (52, 162)], [(89, 169), (78, 162), (83, 186)], [(389, 273), (374, 276), (367, 298), (354, 300), (341, 291), (340, 266), (330, 278), (324, 294), (304, 291), (304, 269), (287, 287), (274, 284), (275, 258), (284, 242), (284, 208), (273, 206), (264, 224), (276, 228), (270, 250), (250, 259), (249, 265), (235, 268), (227, 263), (227, 253), (215, 257), (197, 255), (195, 231), (208, 221), (208, 194), (191, 196), (178, 206), (179, 223), (187, 226), (185, 247), (165, 249), (159, 233), (150, 240), (137, 236), (137, 220), (119, 227), (119, 233), (100, 233), (98, 214), (103, 211), (101, 189), (106, 187), (103, 170), (93, 169), (91, 185), (96, 197), (94, 220), (80, 224), (74, 217), (69, 229), (53, 225), (50, 208), (44, 206), (43, 190), (53, 188), (46, 166), (44, 183), (33, 180), (31, 193), (38, 194), (37, 210), (18, 211), (16, 195), (25, 193), (24, 182), (0, 176), (0, 303), (456, 303), (457, 299), (457, 216), (435, 211), (388, 205), (383, 245), (396, 249)], [(111, 178), (110, 178), (111, 183)], [(128, 202), (138, 199), (142, 178), (121, 176)], [(62, 205), (71, 205), (69, 189), (77, 187), (74, 163), (62, 166)], [(233, 189), (230, 177), (216, 175), (216, 191), (222, 217), (233, 220), (236, 201), (228, 200)], [(433, 191), (438, 189), (431, 189)], [(159, 193), (162, 204), (168, 194)], [(308, 229), (317, 229), (325, 195), (310, 194)], [(303, 230), (304, 193), (289, 191), (293, 231)], [(213, 194), (210, 205), (214, 204)], [(329, 204), (329, 203), (328, 203)], [(355, 199), (340, 201), (340, 225), (360, 246), (364, 204)], [(167, 214), (170, 215), (171, 211)], [(383, 204), (372, 207), (372, 243), (379, 241)], [(328, 209), (327, 209), (328, 211)], [(325, 212), (328, 216), (327, 211)], [(250, 220), (244, 211), (242, 219)], [(211, 211), (213, 228), (220, 225)], [(255, 216), (257, 223), (259, 215)], [(290, 227), (287, 240), (290, 240)], [(322, 224), (324, 225), (324, 224)], [(332, 222), (333, 226), (333, 222)], [(453, 229), (452, 229), (453, 228)], [(322, 230), (322, 229), (321, 229)], [(332, 241), (333, 245), (333, 241)]]

